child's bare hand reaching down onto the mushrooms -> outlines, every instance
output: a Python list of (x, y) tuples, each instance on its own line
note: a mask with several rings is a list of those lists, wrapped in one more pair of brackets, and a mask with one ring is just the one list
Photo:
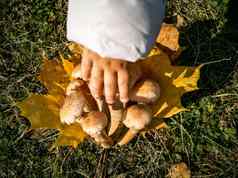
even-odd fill
[(128, 97), (129, 74), (127, 62), (120, 59), (102, 58), (97, 53), (85, 49), (81, 62), (81, 77), (89, 81), (89, 88), (95, 99), (105, 96), (108, 104), (115, 102), (116, 94), (126, 103)]

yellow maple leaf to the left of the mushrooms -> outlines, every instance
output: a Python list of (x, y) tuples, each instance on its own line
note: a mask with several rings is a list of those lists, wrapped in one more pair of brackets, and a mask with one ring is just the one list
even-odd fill
[(59, 110), (65, 97), (65, 89), (70, 81), (73, 63), (62, 60), (43, 59), (39, 75), (40, 81), (48, 89), (47, 95), (31, 94), (17, 105), (21, 115), (28, 118), (32, 128), (49, 128), (59, 130), (56, 144), (77, 147), (86, 134), (80, 125), (61, 124)]

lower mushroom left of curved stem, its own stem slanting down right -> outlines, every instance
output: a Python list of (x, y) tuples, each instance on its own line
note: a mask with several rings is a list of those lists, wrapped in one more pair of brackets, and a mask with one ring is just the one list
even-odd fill
[(79, 120), (82, 129), (104, 148), (109, 148), (113, 141), (107, 136), (107, 116), (103, 112), (92, 111)]

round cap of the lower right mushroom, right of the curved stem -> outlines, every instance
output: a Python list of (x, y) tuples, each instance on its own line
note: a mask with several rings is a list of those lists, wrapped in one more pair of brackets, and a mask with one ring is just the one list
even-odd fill
[(151, 118), (151, 109), (146, 105), (137, 104), (128, 107), (123, 124), (132, 130), (139, 131), (150, 123)]

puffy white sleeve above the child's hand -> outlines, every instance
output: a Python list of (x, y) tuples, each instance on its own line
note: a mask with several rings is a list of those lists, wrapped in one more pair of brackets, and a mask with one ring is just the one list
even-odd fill
[(102, 57), (135, 62), (152, 48), (164, 0), (69, 0), (67, 38)]

